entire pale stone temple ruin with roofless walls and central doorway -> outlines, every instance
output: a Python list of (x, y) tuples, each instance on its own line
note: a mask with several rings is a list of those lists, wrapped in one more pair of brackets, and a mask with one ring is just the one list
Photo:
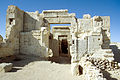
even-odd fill
[[(50, 24), (70, 26), (53, 26), (50, 30)], [(17, 54), (45, 59), (67, 57), (72, 75), (87, 74), (89, 80), (93, 76), (104, 80), (100, 70), (118, 68), (109, 44), (109, 16), (85, 14), (80, 19), (68, 10), (24, 12), (11, 5), (7, 9), (6, 39), (0, 36), (0, 57)]]

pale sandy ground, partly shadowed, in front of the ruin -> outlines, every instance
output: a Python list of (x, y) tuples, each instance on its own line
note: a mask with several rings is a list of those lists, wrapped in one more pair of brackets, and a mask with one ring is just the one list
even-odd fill
[[(61, 58), (56, 63), (36, 56), (19, 55), (12, 61), (12, 71), (0, 72), (0, 80), (85, 80), (84, 75), (72, 76), (70, 63), (66, 61)], [(103, 73), (107, 80), (120, 80), (120, 70)]]

